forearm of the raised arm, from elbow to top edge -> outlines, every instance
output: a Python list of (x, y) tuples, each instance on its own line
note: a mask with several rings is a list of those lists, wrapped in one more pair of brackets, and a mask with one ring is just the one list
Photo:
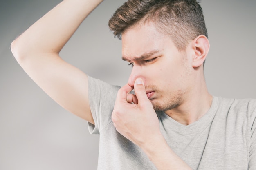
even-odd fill
[(59, 53), (81, 22), (102, 1), (64, 0), (13, 41), (14, 56), (22, 59), (34, 53)]

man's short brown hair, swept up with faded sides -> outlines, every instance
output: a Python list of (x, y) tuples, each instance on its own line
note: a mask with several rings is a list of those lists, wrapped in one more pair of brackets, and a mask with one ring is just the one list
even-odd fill
[(198, 35), (208, 37), (198, 0), (128, 0), (115, 11), (108, 25), (121, 39), (127, 29), (146, 22), (170, 35), (179, 50)]

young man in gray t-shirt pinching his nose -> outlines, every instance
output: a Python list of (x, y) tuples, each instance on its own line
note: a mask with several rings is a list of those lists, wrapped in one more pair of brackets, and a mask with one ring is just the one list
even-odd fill
[(130, 0), (117, 9), (110, 29), (133, 66), (122, 88), (58, 55), (100, 2), (64, 0), (11, 44), (28, 75), (100, 133), (98, 169), (255, 169), (256, 101), (207, 91), (209, 41), (198, 2)]

